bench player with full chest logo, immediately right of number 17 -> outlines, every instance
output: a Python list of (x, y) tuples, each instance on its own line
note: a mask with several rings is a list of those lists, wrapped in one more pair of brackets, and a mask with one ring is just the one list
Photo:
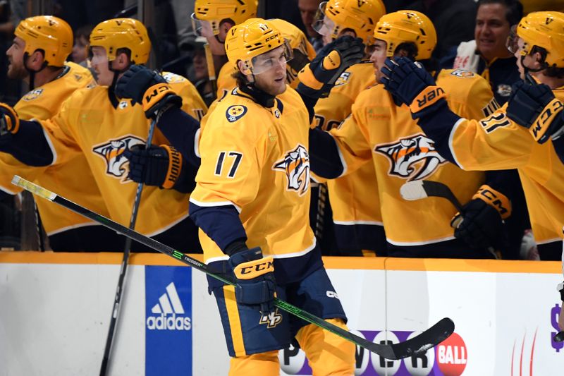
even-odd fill
[[(371, 61), (378, 81), (379, 68), (386, 56), (409, 56), (423, 64), (431, 63), (436, 33), (431, 20), (422, 13), (389, 13), (380, 18), (374, 37)], [(441, 71), (437, 79), (445, 85), (448, 102), (459, 114), (481, 118), (489, 111), (494, 99), (483, 78), (467, 71), (450, 70)], [(365, 194), (379, 195), (389, 255), (492, 257), (488, 246), (498, 245), (494, 242), (502, 227), (497, 210), (491, 208), (486, 210), (486, 216), (468, 221), (479, 230), (487, 226), (493, 233), (474, 231), (474, 238), (458, 238), (450, 227), (457, 210), (448, 200), (427, 198), (407, 202), (401, 198), (400, 187), (404, 183), (428, 179), (445, 183), (460, 202), (467, 203), (466, 207), (476, 205), (472, 202), (484, 188), (484, 174), (462, 171), (443, 159), (411, 119), (409, 109), (396, 107), (383, 85), (361, 92), (351, 116), (340, 128), (333, 128), (330, 134), (314, 129), (309, 142), (312, 171), (321, 176), (341, 176), (362, 164), (373, 164), (378, 188)], [(318, 159), (324, 164), (316, 163)]]

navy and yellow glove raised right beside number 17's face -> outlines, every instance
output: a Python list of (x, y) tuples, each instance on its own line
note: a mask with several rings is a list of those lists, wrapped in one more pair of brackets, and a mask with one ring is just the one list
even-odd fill
[(360, 38), (350, 35), (337, 38), (321, 48), (315, 59), (298, 73), (298, 91), (307, 97), (328, 97), (341, 73), (360, 63), (363, 57), (364, 44)]

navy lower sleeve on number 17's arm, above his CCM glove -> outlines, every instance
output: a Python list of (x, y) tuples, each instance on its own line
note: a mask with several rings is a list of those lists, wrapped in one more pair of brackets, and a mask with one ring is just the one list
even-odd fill
[(238, 240), (247, 240), (247, 233), (233, 205), (199, 206), (190, 201), (190, 218), (212, 239), (223, 252), (228, 245)]

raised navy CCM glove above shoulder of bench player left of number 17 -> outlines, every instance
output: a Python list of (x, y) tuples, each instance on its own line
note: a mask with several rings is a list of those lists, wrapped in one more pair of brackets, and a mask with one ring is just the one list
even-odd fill
[(145, 66), (132, 65), (116, 83), (116, 95), (140, 103), (147, 119), (162, 109), (181, 107), (182, 98), (176, 95), (163, 76)]

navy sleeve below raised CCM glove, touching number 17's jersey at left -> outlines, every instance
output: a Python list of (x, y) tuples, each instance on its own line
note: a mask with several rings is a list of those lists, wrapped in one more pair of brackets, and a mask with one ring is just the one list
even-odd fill
[(173, 147), (182, 154), (185, 161), (200, 166), (200, 157), (195, 150), (195, 137), (200, 122), (181, 109), (173, 107), (164, 111), (157, 127)]

